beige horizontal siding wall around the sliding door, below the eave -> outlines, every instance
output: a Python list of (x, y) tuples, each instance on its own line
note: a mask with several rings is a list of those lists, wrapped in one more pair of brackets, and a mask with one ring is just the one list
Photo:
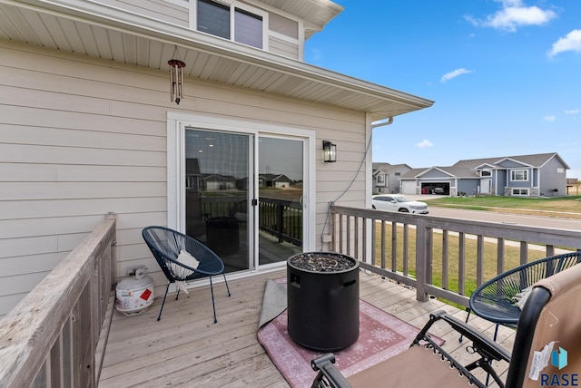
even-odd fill
[[(165, 72), (0, 41), (0, 316), (109, 211), (118, 274), (145, 264), (162, 293), (141, 230), (167, 224), (167, 112), (316, 131), (317, 241), (350, 179), (338, 204), (364, 205), (363, 112), (201, 80), (185, 92), (177, 106)], [(337, 144), (337, 163), (322, 162), (322, 140)]]

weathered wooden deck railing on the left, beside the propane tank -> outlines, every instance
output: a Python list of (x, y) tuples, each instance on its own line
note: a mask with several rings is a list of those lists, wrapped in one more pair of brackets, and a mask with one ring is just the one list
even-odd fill
[(115, 216), (0, 320), (0, 387), (95, 387), (113, 315)]

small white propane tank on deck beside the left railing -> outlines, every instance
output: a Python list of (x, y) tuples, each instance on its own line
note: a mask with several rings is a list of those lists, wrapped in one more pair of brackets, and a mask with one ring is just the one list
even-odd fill
[(145, 276), (145, 266), (134, 268), (135, 276), (117, 284), (115, 307), (124, 315), (138, 315), (153, 304), (153, 278)]

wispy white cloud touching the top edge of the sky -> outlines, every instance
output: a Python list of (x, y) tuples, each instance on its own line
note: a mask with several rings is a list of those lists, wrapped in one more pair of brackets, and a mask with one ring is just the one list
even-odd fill
[(475, 19), (473, 16), (465, 18), (475, 25), (497, 28), (510, 33), (517, 31), (517, 28), (526, 25), (547, 24), (556, 18), (556, 13), (549, 9), (541, 9), (537, 6), (524, 5), (522, 0), (495, 0), (502, 5), (502, 8), (495, 14), (487, 15), (484, 20)]

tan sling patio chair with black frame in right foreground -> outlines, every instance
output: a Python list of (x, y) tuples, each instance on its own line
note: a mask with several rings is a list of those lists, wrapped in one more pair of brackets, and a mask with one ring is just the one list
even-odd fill
[[(468, 349), (478, 354), (478, 361), (462, 365), (435, 344), (428, 330), (437, 322), (448, 323), (468, 338), (472, 342), (467, 343)], [(473, 374), (477, 368), (490, 373), (500, 387), (574, 386), (581, 371), (580, 333), (581, 266), (574, 266), (533, 286), (518, 320), (512, 354), (442, 311), (430, 315), (407, 351), (348, 378), (335, 368), (332, 354), (312, 360), (312, 368), (319, 371), (312, 387), (466, 387), (468, 383), (486, 387)], [(509, 363), (505, 381), (492, 370), (493, 361)]]

